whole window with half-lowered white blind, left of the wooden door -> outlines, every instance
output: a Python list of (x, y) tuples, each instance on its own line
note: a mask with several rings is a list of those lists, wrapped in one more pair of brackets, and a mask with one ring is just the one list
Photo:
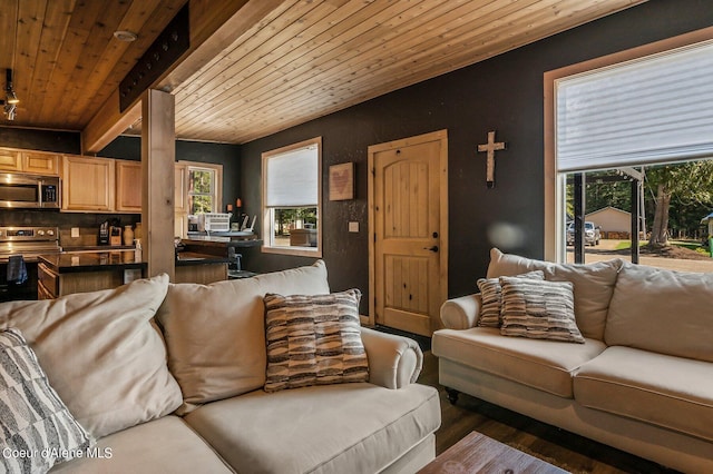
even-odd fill
[(264, 152), (263, 251), (322, 256), (320, 137)]

